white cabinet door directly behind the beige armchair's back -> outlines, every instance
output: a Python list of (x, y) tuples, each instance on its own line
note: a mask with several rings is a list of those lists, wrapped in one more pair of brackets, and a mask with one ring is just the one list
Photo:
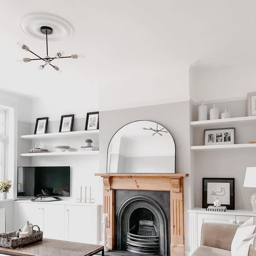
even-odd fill
[(197, 214), (197, 241), (198, 247), (201, 245), (201, 229), (204, 222), (236, 224), (235, 215), (219, 213), (198, 213)]

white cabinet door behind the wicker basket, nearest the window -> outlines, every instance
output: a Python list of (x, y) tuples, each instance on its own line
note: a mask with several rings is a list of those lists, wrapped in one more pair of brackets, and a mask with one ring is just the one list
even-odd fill
[[(33, 225), (38, 225), (40, 230), (43, 231), (43, 208), (39, 203), (19, 203), (18, 213), (19, 228), (25, 226), (25, 221)], [(36, 228), (34, 228), (36, 230)]]

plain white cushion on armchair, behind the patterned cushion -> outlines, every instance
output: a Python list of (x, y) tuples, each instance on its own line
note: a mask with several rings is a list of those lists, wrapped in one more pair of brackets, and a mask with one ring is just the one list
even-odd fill
[(255, 232), (256, 232), (256, 222), (254, 220), (254, 217), (250, 218), (243, 225), (238, 227), (231, 244), (232, 255), (235, 255), (235, 252), (237, 251), (242, 241), (244, 239), (247, 239), (249, 236), (251, 236)]

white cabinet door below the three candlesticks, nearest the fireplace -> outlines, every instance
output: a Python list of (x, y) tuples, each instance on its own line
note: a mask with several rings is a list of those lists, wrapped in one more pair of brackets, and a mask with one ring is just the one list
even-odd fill
[(65, 240), (95, 244), (95, 235), (92, 235), (92, 207), (65, 206)]

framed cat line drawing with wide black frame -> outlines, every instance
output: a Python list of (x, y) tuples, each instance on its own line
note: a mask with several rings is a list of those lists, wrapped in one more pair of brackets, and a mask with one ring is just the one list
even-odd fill
[(235, 210), (235, 178), (203, 178), (202, 207), (219, 199), (222, 206)]

